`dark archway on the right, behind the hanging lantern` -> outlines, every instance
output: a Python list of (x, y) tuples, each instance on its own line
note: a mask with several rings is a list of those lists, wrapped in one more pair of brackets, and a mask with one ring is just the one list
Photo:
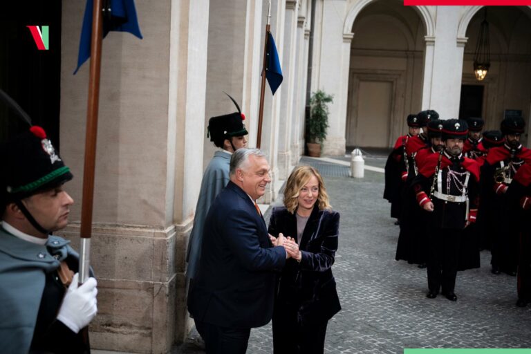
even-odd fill
[[(490, 26), (491, 65), (485, 80), (478, 82), (473, 73), (474, 50), (481, 21)], [(483, 116), (485, 129), (499, 129), (507, 114), (521, 114), (528, 126), (531, 88), (531, 9), (528, 6), (471, 6), (464, 12), (458, 36), (467, 39), (463, 58), (460, 118), (470, 112)], [(474, 100), (469, 91), (481, 95)], [(529, 139), (523, 136), (523, 143)]]

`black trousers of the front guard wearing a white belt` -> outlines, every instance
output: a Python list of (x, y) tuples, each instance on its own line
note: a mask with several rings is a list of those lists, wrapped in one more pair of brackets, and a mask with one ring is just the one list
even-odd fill
[(429, 230), (428, 288), (432, 292), (454, 292), (456, 286), (459, 245), (463, 230)]

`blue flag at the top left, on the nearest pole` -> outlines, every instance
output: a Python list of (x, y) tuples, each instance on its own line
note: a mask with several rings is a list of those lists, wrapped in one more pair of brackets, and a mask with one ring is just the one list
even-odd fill
[[(109, 3), (111, 11), (103, 12), (103, 37), (105, 38), (111, 30), (115, 30), (129, 32), (142, 39), (133, 0), (110, 0)], [(91, 57), (92, 8), (93, 0), (87, 0), (81, 29), (80, 53), (77, 55), (77, 68), (75, 68), (74, 75), (86, 59)]]

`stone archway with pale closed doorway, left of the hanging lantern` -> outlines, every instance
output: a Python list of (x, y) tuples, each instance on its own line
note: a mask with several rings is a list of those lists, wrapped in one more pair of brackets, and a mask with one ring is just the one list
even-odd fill
[(402, 135), (404, 117), (422, 106), (425, 38), (433, 36), (434, 21), (424, 7), (362, 0), (348, 12), (344, 32), (354, 34), (346, 145), (389, 147)]

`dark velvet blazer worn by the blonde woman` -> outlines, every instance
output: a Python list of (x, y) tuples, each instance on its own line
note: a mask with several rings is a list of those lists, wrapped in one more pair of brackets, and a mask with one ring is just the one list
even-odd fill
[[(274, 207), (268, 231), (297, 239), (297, 217), (286, 207)], [(275, 302), (280, 311), (275, 313), (285, 306), (296, 308), (298, 322), (304, 326), (326, 322), (341, 310), (332, 274), (338, 236), (339, 213), (319, 210), (316, 204), (299, 243), (300, 263), (288, 259), (281, 273)]]

